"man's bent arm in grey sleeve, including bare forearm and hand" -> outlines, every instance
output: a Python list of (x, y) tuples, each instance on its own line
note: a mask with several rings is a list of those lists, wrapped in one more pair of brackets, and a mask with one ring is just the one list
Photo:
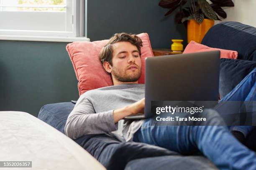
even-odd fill
[(117, 130), (115, 125), (125, 116), (136, 114), (143, 110), (145, 100), (139, 100), (131, 105), (117, 110), (95, 113), (92, 103), (85, 97), (79, 97), (69, 114), (65, 125), (65, 133), (69, 138), (76, 139), (83, 135), (108, 133)]

